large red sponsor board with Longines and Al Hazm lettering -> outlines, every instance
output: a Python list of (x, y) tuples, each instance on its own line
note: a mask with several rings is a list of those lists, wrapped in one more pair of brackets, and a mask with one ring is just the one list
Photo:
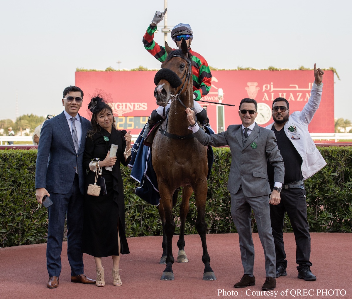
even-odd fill
[[(84, 92), (80, 114), (87, 116), (87, 107), (94, 89), (112, 94), (113, 111), (119, 129), (138, 134), (147, 117), (156, 109), (154, 76), (156, 71), (76, 72), (76, 86)], [(217, 104), (199, 102), (206, 107), (210, 125), (215, 132), (226, 130), (230, 124), (241, 123), (238, 116), (239, 103), (243, 98), (255, 99), (258, 103), (256, 122), (265, 127), (272, 122), (272, 101), (283, 97), (290, 103), (290, 113), (302, 110), (307, 103), (314, 72), (310, 71), (212, 71), (212, 88), (201, 100), (219, 102), (218, 89), (223, 90), (224, 107), (222, 128)], [(311, 133), (334, 132), (334, 74), (325, 71), (320, 107), (309, 124)], [(221, 111), (221, 110), (220, 110)]]

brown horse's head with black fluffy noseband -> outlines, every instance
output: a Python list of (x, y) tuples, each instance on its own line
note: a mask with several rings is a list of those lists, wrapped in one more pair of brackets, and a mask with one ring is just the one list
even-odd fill
[(165, 50), (168, 56), (154, 78), (154, 96), (159, 106), (166, 106), (176, 94), (185, 92), (190, 84), (193, 86), (191, 54), (188, 52), (186, 41), (182, 39), (181, 49), (176, 50), (172, 50), (165, 42)]

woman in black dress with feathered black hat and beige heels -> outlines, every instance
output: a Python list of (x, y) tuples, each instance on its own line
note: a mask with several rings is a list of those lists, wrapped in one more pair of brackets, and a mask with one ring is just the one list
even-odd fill
[[(88, 108), (92, 115), (92, 130), (88, 132), (83, 156), (83, 167), (88, 170), (88, 184), (94, 184), (96, 162), (102, 169), (107, 194), (101, 188), (99, 196), (86, 194), (84, 198), (84, 223), (82, 251), (94, 256), (96, 265), (96, 285), (105, 285), (104, 268), (101, 258), (111, 256), (113, 260), (113, 285), (121, 286), (119, 275), (120, 254), (128, 254), (125, 232), (125, 201), (123, 194), (120, 163), (127, 166), (131, 159), (131, 135), (115, 128), (113, 111), (104, 100), (92, 98)], [(118, 145), (114, 157), (109, 157), (111, 145)], [(113, 166), (112, 171), (105, 166)], [(98, 170), (99, 171), (99, 170)], [(101, 185), (98, 181), (98, 185)]]

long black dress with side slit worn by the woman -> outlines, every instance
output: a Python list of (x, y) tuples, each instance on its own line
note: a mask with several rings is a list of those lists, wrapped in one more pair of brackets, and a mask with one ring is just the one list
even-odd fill
[[(99, 196), (84, 196), (84, 221), (82, 252), (95, 257), (119, 255), (118, 231), (121, 240), (121, 254), (128, 254), (128, 244), (125, 228), (125, 201), (123, 181), (120, 172), (120, 163), (127, 166), (130, 161), (125, 161), (126, 148), (125, 130), (119, 131), (112, 128), (111, 134), (105, 129), (95, 133), (92, 139), (87, 136), (83, 156), (83, 168), (89, 171), (89, 163), (93, 158), (104, 160), (112, 144), (118, 145), (117, 161), (112, 171), (102, 167), (105, 178), (107, 194)], [(107, 141), (108, 139), (108, 141)], [(85, 190), (89, 184), (94, 184), (95, 172), (89, 171)]]

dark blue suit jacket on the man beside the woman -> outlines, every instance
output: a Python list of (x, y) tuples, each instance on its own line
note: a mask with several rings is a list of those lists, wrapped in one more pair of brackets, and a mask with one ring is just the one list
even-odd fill
[(72, 188), (78, 165), (80, 191), (84, 194), (82, 160), (90, 121), (80, 116), (82, 124), (81, 145), (76, 154), (72, 135), (64, 112), (47, 120), (40, 133), (36, 164), (36, 188), (48, 192), (67, 194)]

